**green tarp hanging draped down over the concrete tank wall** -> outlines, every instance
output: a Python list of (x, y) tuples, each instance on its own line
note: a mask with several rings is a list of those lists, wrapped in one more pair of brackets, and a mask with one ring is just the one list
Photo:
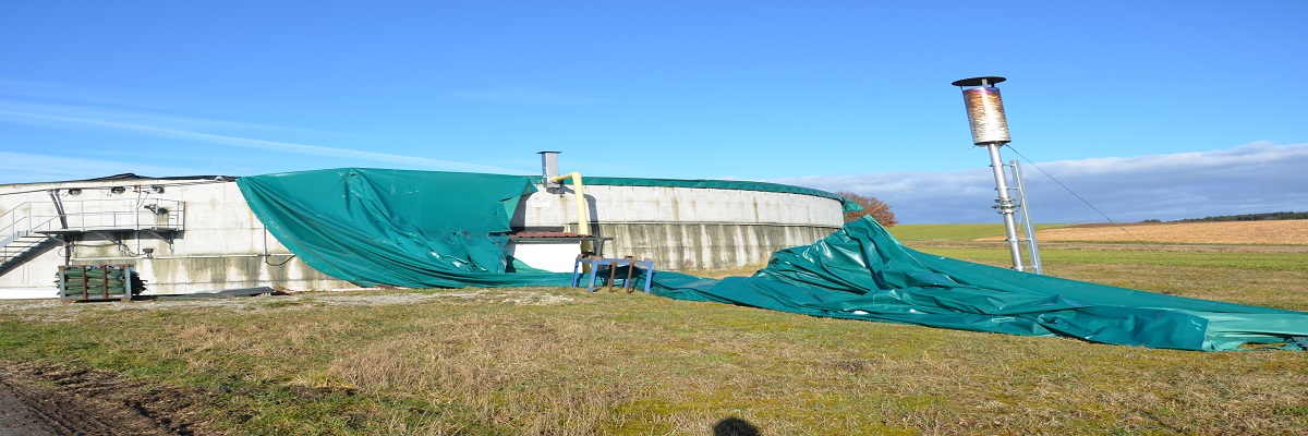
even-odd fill
[(345, 168), (242, 177), (241, 194), (290, 253), (358, 285), (568, 285), (505, 274), (509, 220), (530, 177)]

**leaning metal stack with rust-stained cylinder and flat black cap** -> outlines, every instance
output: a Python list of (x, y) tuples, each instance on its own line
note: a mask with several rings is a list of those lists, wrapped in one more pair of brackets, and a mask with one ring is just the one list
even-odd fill
[[(990, 152), (990, 169), (994, 170), (994, 190), (999, 192), (994, 208), (1003, 216), (1003, 229), (1008, 234), (1008, 250), (1012, 254), (1012, 268), (1023, 271), (1022, 245), (1018, 238), (1018, 223), (1014, 217), (1016, 204), (1008, 195), (1008, 182), (1005, 178), (1003, 160), (999, 147), (1012, 140), (1008, 136), (1008, 119), (1003, 115), (1003, 100), (999, 88), (994, 85), (1003, 77), (972, 77), (955, 81), (963, 88), (963, 103), (968, 110), (968, 124), (972, 126), (972, 144), (985, 147)], [(973, 88), (968, 88), (973, 86)]]

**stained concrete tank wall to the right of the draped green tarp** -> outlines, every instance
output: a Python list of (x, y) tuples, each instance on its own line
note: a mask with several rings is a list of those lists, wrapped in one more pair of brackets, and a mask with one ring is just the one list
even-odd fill
[[(661, 268), (761, 264), (844, 225), (837, 199), (807, 194), (666, 186), (583, 186), (591, 232), (606, 257), (651, 258)], [(573, 189), (528, 195), (514, 227), (577, 230)]]

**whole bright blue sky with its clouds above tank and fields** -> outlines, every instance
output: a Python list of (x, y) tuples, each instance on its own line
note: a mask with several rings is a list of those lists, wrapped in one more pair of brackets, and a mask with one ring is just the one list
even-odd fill
[[(738, 178), (988, 223), (1308, 211), (1304, 1), (7, 1), (0, 183), (339, 168)], [(1084, 206), (1080, 199), (1093, 208)], [(1044, 206), (1041, 206), (1044, 204)]]

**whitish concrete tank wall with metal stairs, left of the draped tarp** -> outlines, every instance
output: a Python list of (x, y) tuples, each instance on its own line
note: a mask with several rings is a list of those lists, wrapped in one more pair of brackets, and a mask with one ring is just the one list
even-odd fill
[[(58, 219), (59, 206), (64, 208), (67, 225)], [(160, 207), (167, 211), (160, 215)], [(30, 246), (31, 250), (17, 259), (8, 259), (12, 251), (0, 259), (0, 299), (56, 297), (55, 274), (64, 262), (131, 263), (145, 280), (146, 293), (263, 285), (353, 287), (296, 259), (254, 217), (232, 181), (120, 179), (0, 186), (0, 241), (24, 230), (31, 232), (27, 238), (51, 238)], [(7, 250), (10, 249), (13, 245), (7, 245)]]

